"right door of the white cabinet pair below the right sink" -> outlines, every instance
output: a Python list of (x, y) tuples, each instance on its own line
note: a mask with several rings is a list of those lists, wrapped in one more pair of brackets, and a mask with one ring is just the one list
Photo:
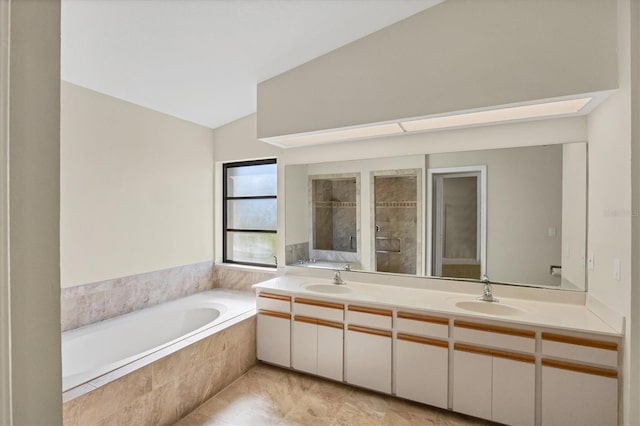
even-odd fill
[(535, 390), (535, 363), (493, 357), (493, 421), (534, 425)]

